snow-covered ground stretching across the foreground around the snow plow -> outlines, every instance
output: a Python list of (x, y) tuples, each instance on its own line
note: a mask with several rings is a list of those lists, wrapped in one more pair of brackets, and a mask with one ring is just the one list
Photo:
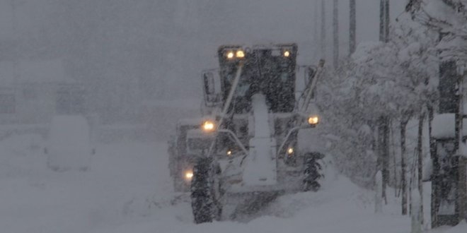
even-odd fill
[(35, 135), (0, 143), (1, 232), (410, 232), (397, 201), (376, 215), (374, 193), (332, 169), (321, 191), (282, 196), (250, 222), (194, 225), (188, 195), (173, 193), (166, 143), (100, 144), (87, 172), (47, 169), (44, 144)]

